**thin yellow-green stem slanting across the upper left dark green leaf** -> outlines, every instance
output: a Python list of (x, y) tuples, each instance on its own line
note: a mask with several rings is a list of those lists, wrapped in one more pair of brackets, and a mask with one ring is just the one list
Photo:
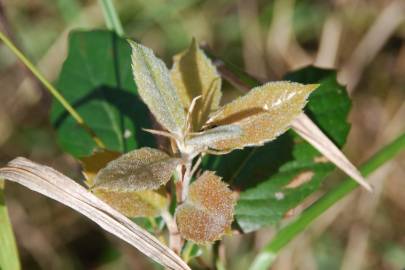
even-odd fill
[(76, 122), (93, 138), (97, 146), (105, 148), (103, 142), (96, 133), (86, 124), (79, 113), (69, 104), (69, 102), (59, 93), (59, 91), (39, 72), (39, 70), (28, 60), (27, 57), (0, 31), (0, 40), (14, 53), (15, 56), (34, 74), (34, 76), (45, 86), (45, 88), (56, 98), (66, 111), (76, 120)]

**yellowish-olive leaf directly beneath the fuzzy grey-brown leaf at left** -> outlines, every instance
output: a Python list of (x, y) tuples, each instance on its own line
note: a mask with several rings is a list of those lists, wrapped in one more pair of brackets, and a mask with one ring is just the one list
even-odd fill
[(94, 194), (127, 217), (155, 217), (166, 209), (168, 197), (163, 190), (109, 191), (97, 189)]

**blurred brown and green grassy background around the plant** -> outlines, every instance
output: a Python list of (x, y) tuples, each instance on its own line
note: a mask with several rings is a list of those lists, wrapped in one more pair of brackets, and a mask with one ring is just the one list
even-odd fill
[[(315, 64), (337, 68), (353, 99), (345, 152), (355, 163), (405, 129), (405, 3), (402, 0), (116, 0), (127, 35), (168, 64), (195, 37), (221, 58), (264, 80)], [(105, 28), (96, 0), (0, 0), (0, 29), (50, 80), (57, 80), (71, 29)], [(227, 86), (229, 88), (229, 86)], [(0, 165), (16, 156), (81, 179), (56, 144), (51, 96), (0, 44)], [(74, 138), (72, 138), (74, 139)], [(341, 173), (330, 179), (338, 181)], [(403, 269), (405, 155), (327, 211), (272, 269)], [(296, 215), (312, 201), (295, 209)], [(23, 269), (154, 269), (96, 225), (20, 186), (6, 200)], [(286, 219), (291, 218), (287, 217)], [(275, 228), (225, 239), (227, 269), (246, 269)], [(1, 248), (1, 247), (0, 247)], [(207, 269), (209, 258), (194, 263)]]

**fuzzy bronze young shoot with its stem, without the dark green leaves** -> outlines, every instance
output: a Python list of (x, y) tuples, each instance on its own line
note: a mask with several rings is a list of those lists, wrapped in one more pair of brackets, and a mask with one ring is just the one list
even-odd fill
[(90, 168), (95, 156), (83, 160), (86, 183), (127, 216), (154, 217), (169, 212), (174, 196), (164, 186), (177, 173), (174, 218), (181, 237), (198, 244), (218, 240), (230, 232), (236, 197), (215, 172), (201, 172), (201, 157), (274, 140), (318, 85), (269, 82), (221, 106), (221, 77), (195, 40), (174, 56), (170, 70), (151, 49), (129, 43), (138, 93), (162, 127), (147, 131), (169, 138), (173, 151), (143, 147), (118, 158), (98, 152), (99, 168)]

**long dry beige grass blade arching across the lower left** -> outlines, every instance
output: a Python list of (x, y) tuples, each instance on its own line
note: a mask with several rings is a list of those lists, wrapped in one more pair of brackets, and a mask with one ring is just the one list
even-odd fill
[(0, 169), (0, 178), (17, 182), (69, 206), (168, 269), (190, 269), (155, 237), (75, 181), (50, 167), (36, 164), (25, 158), (16, 158)]

